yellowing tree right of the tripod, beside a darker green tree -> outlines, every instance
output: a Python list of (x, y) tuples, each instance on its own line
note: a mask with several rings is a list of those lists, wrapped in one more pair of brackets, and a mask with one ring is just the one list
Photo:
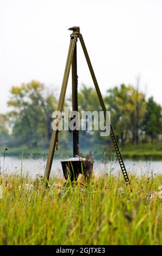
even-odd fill
[(146, 102), (145, 95), (139, 92), (139, 88), (133, 86), (121, 86), (109, 89), (105, 96), (107, 109), (111, 111), (111, 123), (121, 144), (127, 141), (128, 135), (132, 135), (134, 144), (139, 142), (139, 131), (144, 120)]

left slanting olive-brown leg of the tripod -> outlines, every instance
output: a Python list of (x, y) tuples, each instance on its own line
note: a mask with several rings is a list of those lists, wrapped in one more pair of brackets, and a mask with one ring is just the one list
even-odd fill
[[(71, 37), (70, 46), (69, 46), (68, 54), (67, 54), (64, 78), (63, 78), (61, 93), (60, 93), (59, 102), (58, 102), (58, 109), (57, 110), (60, 111), (60, 112), (63, 111), (66, 88), (67, 88), (67, 82), (68, 82), (68, 77), (69, 77), (69, 73), (70, 73), (70, 68), (71, 68), (71, 63), (72, 63), (72, 58), (73, 58), (73, 52), (74, 52), (74, 46), (76, 45), (76, 41), (77, 41), (77, 36)], [(57, 131), (53, 130), (52, 137), (51, 137), (51, 142), (50, 142), (49, 150), (48, 150), (45, 174), (44, 174), (44, 179), (46, 181), (46, 186), (47, 186), (47, 181), (49, 180), (49, 175), (51, 173), (51, 167), (52, 167), (52, 161), (53, 161), (53, 156), (54, 156), (55, 144), (57, 142), (57, 135), (58, 135), (58, 130)]]

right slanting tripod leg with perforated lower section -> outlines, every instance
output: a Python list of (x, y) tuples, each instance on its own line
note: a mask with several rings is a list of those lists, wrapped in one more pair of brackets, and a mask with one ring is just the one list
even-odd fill
[[(96, 88), (96, 92), (97, 92), (97, 95), (98, 95), (99, 102), (100, 102), (102, 110), (104, 112), (104, 118), (106, 119), (107, 110), (105, 108), (101, 92), (99, 90), (99, 86), (98, 86), (98, 83), (97, 83), (97, 80), (96, 80), (95, 72), (92, 68), (92, 64), (91, 64), (91, 61), (90, 61), (90, 58), (89, 58), (89, 55), (88, 55), (88, 51), (86, 50), (86, 46), (85, 46), (85, 43), (84, 43), (84, 40), (83, 40), (83, 36), (82, 36), (82, 34), (79, 34), (78, 36), (79, 36), (79, 40), (80, 40), (80, 43), (81, 43), (82, 48), (83, 48), (83, 52), (84, 52), (84, 55), (85, 55), (85, 58), (86, 58), (86, 62), (89, 66), (89, 70), (90, 70), (90, 73), (91, 73), (91, 76), (92, 76), (92, 80), (94, 81), (94, 84), (95, 84), (95, 88)], [(117, 143), (115, 133), (114, 133), (114, 130), (113, 130), (113, 126), (111, 125), (111, 123), (110, 123), (110, 136), (111, 136), (111, 139), (112, 139), (115, 151), (116, 151), (117, 159), (119, 160), (119, 164), (120, 164), (120, 167), (121, 167), (121, 170), (122, 170), (122, 174), (124, 176), (124, 180), (126, 182), (128, 182), (129, 178), (128, 178), (127, 170), (126, 170), (126, 167), (124, 166), (124, 162), (123, 162), (122, 155), (121, 155), (121, 152), (120, 152), (120, 149), (119, 149), (119, 145)]]

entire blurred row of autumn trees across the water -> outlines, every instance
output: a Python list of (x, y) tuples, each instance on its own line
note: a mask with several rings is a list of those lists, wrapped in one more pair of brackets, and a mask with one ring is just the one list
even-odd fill
[[(161, 106), (153, 97), (146, 99), (140, 91), (139, 82), (136, 86), (121, 84), (108, 89), (103, 99), (111, 112), (111, 123), (122, 146), (127, 142), (138, 144), (160, 139)], [(70, 100), (66, 100), (66, 106), (70, 105)], [(84, 84), (78, 92), (78, 102), (79, 111), (102, 110), (95, 89)], [(0, 147), (27, 145), (47, 148), (52, 135), (52, 113), (57, 110), (57, 103), (54, 93), (38, 81), (13, 86), (8, 101), (10, 111), (0, 114)], [(65, 146), (69, 136), (68, 132), (60, 136)], [(80, 137), (83, 147), (86, 139), (91, 143), (106, 143), (97, 132), (82, 131)]]

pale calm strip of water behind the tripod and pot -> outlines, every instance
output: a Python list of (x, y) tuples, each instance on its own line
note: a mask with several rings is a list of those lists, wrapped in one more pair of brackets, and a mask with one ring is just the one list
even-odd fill
[[(3, 164), (4, 162), (4, 164)], [(136, 174), (141, 174), (144, 172), (153, 172), (155, 174), (162, 174), (162, 161), (133, 161), (125, 160), (124, 161), (127, 172), (133, 172)], [(7, 170), (8, 173), (21, 173), (21, 159), (17, 157), (0, 157), (0, 167), (1, 172)], [(36, 174), (43, 175), (45, 172), (46, 160), (45, 159), (23, 159), (22, 161), (22, 170), (23, 174), (29, 174), (32, 178)], [(121, 171), (118, 161), (109, 161), (107, 163), (102, 163), (99, 161), (94, 162), (94, 173), (96, 175), (104, 173), (117, 173)], [(51, 174), (57, 175), (58, 177), (63, 176), (63, 171), (61, 168), (60, 160), (54, 160), (52, 164)]]

